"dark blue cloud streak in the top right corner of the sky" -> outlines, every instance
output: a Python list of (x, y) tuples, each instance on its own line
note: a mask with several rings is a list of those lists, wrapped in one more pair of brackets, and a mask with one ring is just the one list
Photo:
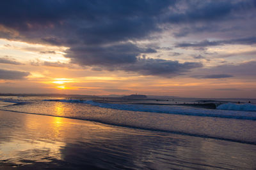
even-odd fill
[(255, 1), (186, 1), (188, 9), (173, 13), (167, 19), (172, 23), (211, 22), (233, 18), (232, 13), (255, 8)]

